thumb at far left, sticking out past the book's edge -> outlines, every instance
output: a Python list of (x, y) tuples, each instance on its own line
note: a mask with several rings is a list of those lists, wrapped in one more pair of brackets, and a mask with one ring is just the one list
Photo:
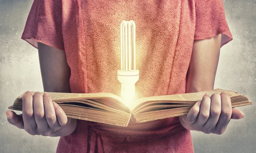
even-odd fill
[(6, 112), (7, 120), (10, 124), (23, 129), (24, 128), (24, 123), (22, 119), (22, 114), (17, 115), (14, 111), (7, 111)]

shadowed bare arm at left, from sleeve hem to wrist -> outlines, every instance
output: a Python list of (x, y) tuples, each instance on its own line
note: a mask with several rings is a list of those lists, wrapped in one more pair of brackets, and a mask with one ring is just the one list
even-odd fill
[[(38, 54), (44, 91), (70, 93), (70, 67), (65, 52), (38, 43)], [(68, 118), (67, 124), (50, 136), (70, 135), (76, 129), (76, 125), (77, 119)]]

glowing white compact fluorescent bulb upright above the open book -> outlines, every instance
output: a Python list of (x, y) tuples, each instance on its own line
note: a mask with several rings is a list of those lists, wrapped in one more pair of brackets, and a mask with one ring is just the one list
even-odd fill
[(135, 96), (135, 83), (139, 80), (136, 70), (136, 27), (134, 21), (122, 21), (120, 24), (121, 69), (117, 71), (117, 79), (121, 82), (121, 95), (125, 102)]

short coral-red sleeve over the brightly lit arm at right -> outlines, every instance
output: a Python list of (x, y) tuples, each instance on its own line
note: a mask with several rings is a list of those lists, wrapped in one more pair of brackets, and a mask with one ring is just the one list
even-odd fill
[(233, 40), (222, 0), (195, 0), (195, 40), (222, 34), (221, 46)]

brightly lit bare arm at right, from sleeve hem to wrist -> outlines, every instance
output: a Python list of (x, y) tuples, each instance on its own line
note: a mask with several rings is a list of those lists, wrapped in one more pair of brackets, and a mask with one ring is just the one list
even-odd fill
[[(220, 54), (221, 34), (207, 40), (194, 42), (186, 80), (186, 93), (208, 91), (214, 88), (215, 75)], [(181, 125), (188, 130), (193, 129), (179, 117)]]

